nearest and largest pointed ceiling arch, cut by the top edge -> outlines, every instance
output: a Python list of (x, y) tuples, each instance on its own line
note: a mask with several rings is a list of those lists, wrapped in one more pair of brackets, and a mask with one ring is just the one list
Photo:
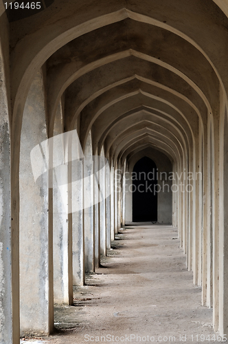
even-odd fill
[[(210, 60), (210, 63), (213, 65), (213, 67), (215, 65), (214, 69), (218, 69), (219, 71), (218, 77), (220, 79), (223, 78), (223, 82), (227, 84), (226, 77), (223, 73), (223, 71), (225, 70), (224, 68), (226, 60), (223, 62), (221, 58), (218, 63), (218, 61), (216, 61), (216, 54), (214, 53), (221, 50), (220, 56), (224, 56), (224, 58), (225, 56), (227, 56), (226, 52), (223, 52), (223, 50), (225, 50), (225, 47), (227, 46), (227, 36), (225, 34), (225, 30), (223, 30), (222, 28), (224, 27), (224, 25), (220, 25), (221, 23), (227, 22), (227, 18), (224, 16), (223, 12), (218, 12), (216, 8), (218, 13), (216, 18), (214, 19), (214, 25), (210, 25), (208, 27), (208, 25), (205, 25), (203, 21), (196, 21), (196, 19), (198, 19), (198, 15), (203, 10), (203, 4), (201, 2), (199, 3), (196, 0), (190, 1), (189, 3), (190, 9), (195, 11), (196, 15), (190, 17), (187, 16), (185, 18), (186, 20), (184, 21), (183, 14), (185, 14), (187, 11), (186, 9), (184, 11), (183, 8), (181, 9), (181, 6), (183, 5), (180, 1), (177, 1), (179, 3), (179, 6), (176, 6), (174, 18), (172, 18), (172, 15), (170, 16), (170, 12), (166, 13), (166, 11), (170, 10), (172, 13), (173, 7), (170, 8), (169, 4), (167, 4), (167, 6), (163, 6), (163, 8), (161, 9), (161, 4), (159, 4), (158, 1), (155, 1), (155, 3), (153, 3), (152, 6), (150, 1), (150, 6), (146, 6), (148, 11), (146, 11), (145, 14), (141, 14), (140, 12), (143, 11), (144, 2), (145, 1), (140, 1), (140, 3), (137, 5), (135, 3), (128, 3), (128, 10), (124, 8), (118, 11), (117, 8), (115, 8), (116, 12), (114, 13), (111, 13), (111, 5), (104, 6), (106, 8), (106, 11), (109, 12), (109, 14), (104, 14), (104, 8), (101, 8), (101, 15), (99, 18), (95, 17), (95, 13), (98, 13), (97, 10), (99, 6), (97, 6), (97, 8), (94, 11), (87, 11), (86, 19), (84, 18), (84, 15), (82, 16), (82, 18), (84, 19), (84, 23), (82, 23), (83, 19), (78, 17), (80, 15), (80, 10), (74, 10), (74, 14), (72, 15), (71, 12), (71, 17), (69, 16), (70, 18), (67, 22), (67, 25), (65, 23), (65, 25), (62, 26), (60, 25), (61, 18), (58, 17), (58, 12), (57, 17), (55, 17), (55, 19), (58, 18), (58, 30), (56, 30), (57, 28), (55, 28), (55, 23), (53, 21), (49, 25), (46, 24), (41, 25), (40, 27), (38, 26), (37, 30), (34, 30), (34, 28), (36, 28), (36, 25), (35, 23), (33, 23), (32, 34), (30, 32), (30, 27), (28, 26), (27, 32), (25, 28), (25, 30), (23, 30), (22, 36), (20, 37), (17, 36), (17, 30), (12, 30), (15, 36), (14, 41), (18, 42), (16, 48), (14, 49), (14, 52), (12, 53), (13, 75), (15, 76), (14, 79), (16, 80), (12, 92), (12, 104), (15, 105), (14, 116), (19, 116), (19, 107), (23, 109), (28, 89), (31, 85), (32, 79), (34, 78), (36, 71), (39, 67), (41, 67), (41, 65), (43, 65), (47, 58), (54, 53), (54, 51), (56, 51), (62, 45), (65, 45), (68, 41), (75, 39), (76, 36), (84, 34), (85, 32), (89, 32), (92, 29), (94, 30), (95, 28), (104, 26), (107, 23), (122, 20), (124, 19), (124, 17), (131, 17), (133, 19), (135, 18), (135, 20), (137, 21), (146, 21), (152, 23), (153, 25), (162, 26), (163, 28), (166, 28), (166, 30), (171, 30), (172, 32), (175, 32), (176, 34), (179, 34), (180, 36), (184, 37), (184, 39), (190, 41), (192, 45), (197, 46), (198, 49), (201, 50), (205, 57), (208, 60)], [(119, 7), (122, 7), (122, 3), (119, 4), (119, 1), (116, 6), (118, 7), (118, 5)], [(71, 6), (69, 6), (67, 10), (69, 10)], [(126, 3), (124, 4), (124, 6), (126, 6)], [(174, 6), (174, 1), (172, 1), (172, 6)], [(212, 1), (207, 1), (207, 11), (204, 11), (202, 13), (204, 17), (209, 16), (209, 19), (211, 19), (211, 13), (213, 13), (215, 10), (213, 6), (216, 5)], [(49, 8), (47, 9), (47, 11), (48, 10)], [(134, 12), (132, 12), (131, 10), (133, 10)], [(161, 10), (161, 12), (159, 12), (159, 10)], [(212, 12), (210, 12), (211, 10)], [(169, 21), (169, 25), (164, 24), (162, 20), (164, 17), (166, 17), (166, 14)], [(178, 16), (180, 16), (180, 20), (176, 20)], [(39, 16), (38, 18), (43, 18), (42, 12), (41, 16)], [(62, 20), (65, 19), (66, 17), (64, 17), (64, 19)], [(78, 25), (76, 25), (76, 23)], [(16, 23), (16, 25), (18, 24), (19, 23)], [(198, 35), (198, 30), (201, 30), (201, 35)], [(13, 43), (12, 46), (14, 47)], [(27, 56), (27, 54), (23, 54), (23, 52), (26, 51), (26, 48), (28, 46), (30, 46), (32, 54), (29, 54)]]

